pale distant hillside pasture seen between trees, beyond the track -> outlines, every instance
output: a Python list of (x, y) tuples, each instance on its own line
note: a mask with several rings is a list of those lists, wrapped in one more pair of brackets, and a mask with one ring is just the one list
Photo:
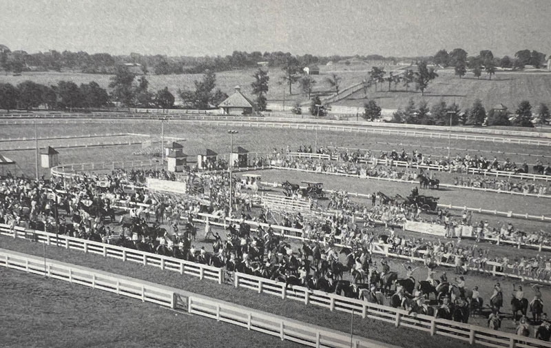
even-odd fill
[[(397, 68), (399, 67), (392, 66), (386, 70)], [(326, 82), (326, 78), (333, 73), (341, 78), (340, 90), (343, 90), (349, 85), (368, 79), (368, 70), (371, 70), (371, 67), (367, 65), (322, 65), (320, 66), (320, 75), (312, 75), (316, 81), (314, 91), (331, 92), (331, 86)], [(254, 71), (255, 69), (219, 72), (216, 74), (217, 87), (223, 92), (231, 94), (233, 87), (240, 85), (242, 91), (250, 95)], [(518, 103), (522, 100), (530, 101), (535, 108), (540, 102), (548, 102), (551, 99), (551, 74), (545, 72), (497, 72), (491, 81), (485, 74), (481, 76), (481, 79), (476, 79), (470, 72), (463, 79), (459, 79), (450, 69), (439, 70), (438, 74), (439, 77), (430, 83), (424, 96), (421, 95), (421, 92), (415, 91), (413, 84), (410, 86), (410, 92), (406, 92), (402, 85), (398, 85), (397, 88), (392, 85), (393, 92), (387, 92), (388, 83), (380, 83), (377, 85), (377, 91), (375, 91), (375, 87), (368, 90), (367, 97), (375, 99), (381, 108), (386, 109), (403, 108), (410, 98), (413, 98), (415, 103), (424, 99), (429, 105), (441, 100), (446, 103), (455, 102), (465, 109), (470, 108), (472, 101), (479, 98), (486, 109), (492, 108), (497, 103), (503, 103), (512, 112), (516, 110)], [(107, 88), (110, 77), (110, 75), (103, 74), (70, 72), (23, 72), (21, 76), (0, 75), (0, 83), (17, 85), (25, 80), (31, 80), (52, 85), (61, 80), (74, 81), (77, 84), (96, 81), (103, 88)], [(289, 89), (281, 84), (282, 71), (279, 68), (271, 68), (269, 77), (267, 98), (270, 103), (281, 103), (283, 99), (286, 99), (286, 105), (292, 105), (294, 101), (306, 101), (307, 98), (300, 92), (298, 83), (293, 85), (293, 94), (289, 95)], [(167, 86), (176, 96), (178, 89), (193, 89), (194, 80), (201, 79), (201, 74), (150, 75), (147, 78), (152, 90), (160, 90)], [(364, 92), (360, 91), (347, 100), (337, 102), (336, 105), (362, 106), (365, 101)]]

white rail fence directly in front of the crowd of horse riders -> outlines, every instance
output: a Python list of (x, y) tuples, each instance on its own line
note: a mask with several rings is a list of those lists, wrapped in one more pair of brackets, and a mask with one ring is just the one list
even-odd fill
[[(29, 238), (29, 234), (31, 234), (30, 238), (32, 238), (32, 240), (37, 240), (40, 243), (47, 243), (48, 245), (56, 245), (59, 243), (67, 249), (77, 249), (83, 252), (118, 258), (123, 261), (132, 261), (136, 263), (143, 263), (143, 265), (152, 265), (155, 267), (160, 267), (160, 269), (180, 272), (180, 274), (198, 276), (200, 279), (216, 280), (218, 283), (225, 282), (225, 277), (227, 276), (227, 273), (229, 273), (216, 267), (192, 263), (189, 261), (180, 260), (178, 258), (171, 258), (169, 256), (160, 256), (157, 254), (140, 252), (125, 247), (116, 247), (114, 245), (98, 243), (91, 240), (83, 240), (80, 238), (73, 238), (63, 235), (56, 236), (56, 234), (50, 234), (48, 232), (34, 230), (27, 231), (21, 228), (15, 229), (14, 232), (15, 233), (12, 233), (9, 228), (6, 228), (6, 225), (0, 225), (0, 234), (13, 236), (14, 238)], [(4, 258), (4, 260), (6, 260), (6, 258)], [(8, 260), (8, 263), (9, 262), (10, 261)], [(0, 264), (2, 264), (1, 260)], [(44, 267), (43, 263), (42, 267)], [(480, 344), (487, 347), (498, 348), (551, 347), (550, 342), (543, 342), (534, 338), (486, 329), (477, 325), (457, 323), (450, 320), (435, 318), (434, 316), (425, 316), (422, 314), (412, 315), (408, 314), (408, 311), (404, 309), (367, 303), (364, 300), (346, 298), (336, 294), (328, 294), (324, 291), (312, 291), (306, 289), (305, 287), (298, 286), (293, 286), (291, 289), (288, 289), (285, 283), (266, 278), (240, 273), (231, 273), (231, 276), (233, 276), (233, 286), (258, 291), (259, 294), (271, 294), (280, 296), (283, 299), (289, 298), (292, 300), (298, 300), (306, 305), (318, 305), (320, 307), (328, 308), (331, 311), (344, 311), (347, 313), (357, 314), (362, 316), (362, 318), (380, 320), (386, 323), (391, 323), (396, 327), (410, 327), (412, 329), (426, 331), (431, 336), (437, 334), (455, 338), (457, 340), (464, 340), (469, 342), (471, 345)], [(174, 296), (171, 298), (174, 298)], [(191, 309), (193, 309), (193, 307)], [(210, 314), (212, 315), (212, 312)], [(216, 314), (216, 316), (218, 316), (218, 314)]]

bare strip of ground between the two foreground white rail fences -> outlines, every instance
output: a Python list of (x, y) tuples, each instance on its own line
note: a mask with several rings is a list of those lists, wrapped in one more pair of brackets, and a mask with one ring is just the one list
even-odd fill
[[(43, 256), (42, 245), (30, 243), (26, 240), (14, 240), (13, 238), (0, 236), (0, 245), (1, 247), (18, 252)], [(249, 289), (236, 289), (232, 285), (218, 285), (216, 282), (199, 280), (198, 278), (187, 275), (181, 276), (176, 272), (169, 272), (167, 270), (162, 271), (156, 267), (143, 266), (136, 263), (123, 263), (121, 260), (103, 258), (103, 256), (94, 254), (84, 254), (80, 251), (62, 249), (61, 247), (55, 247), (53, 245), (47, 247), (46, 253), (48, 258), (54, 260), (177, 287), (197, 294), (226, 300), (238, 305), (252, 307), (295, 320), (301, 320), (313, 325), (329, 327), (344, 332), (350, 331), (350, 314), (344, 314), (339, 311), (331, 312), (329, 309), (313, 305), (304, 305), (304, 303), (299, 303), (295, 300), (282, 300), (278, 296), (258, 294), (256, 291), (251, 291)], [(391, 267), (397, 269), (399, 264), (395, 264), (391, 261)], [(484, 296), (488, 298), (487, 296), (489, 295), (484, 294)], [(40, 307), (37, 308), (36, 311), (43, 313), (44, 309)], [(48, 311), (48, 309), (46, 309), (46, 311)], [(97, 312), (101, 313), (101, 311)], [(178, 316), (178, 318), (180, 318), (180, 316)], [(508, 328), (509, 325), (512, 325), (512, 323), (503, 323), (503, 329), (510, 329)], [(201, 330), (198, 329), (198, 331)], [(203, 334), (204, 331), (203, 328)], [(394, 325), (387, 325), (378, 320), (362, 320), (357, 319), (357, 317), (354, 320), (354, 333), (366, 338), (379, 340), (383, 343), (388, 342), (394, 345), (400, 345), (404, 348), (439, 348), (448, 344), (448, 342), (453, 342), (453, 347), (477, 347), (477, 345), (470, 346), (467, 342), (459, 340), (450, 341), (450, 338), (443, 336), (430, 337), (428, 333), (422, 331), (408, 329), (406, 327), (397, 328)], [(233, 345), (230, 346), (233, 347)], [(230, 346), (225, 345), (225, 347)], [(253, 344), (251, 346), (249, 344), (249, 347), (260, 347), (260, 345)], [(272, 345), (267, 345), (267, 347), (272, 347)]]

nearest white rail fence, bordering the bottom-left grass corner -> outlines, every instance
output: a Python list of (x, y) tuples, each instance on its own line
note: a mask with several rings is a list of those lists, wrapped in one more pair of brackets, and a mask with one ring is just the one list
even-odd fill
[[(93, 289), (109, 291), (171, 309), (185, 309), (189, 314), (231, 323), (249, 330), (276, 336), (281, 340), (291, 340), (310, 347), (348, 348), (351, 345), (350, 334), (315, 325), (306, 325), (297, 320), (274, 316), (273, 314), (232, 305), (205, 296), (194, 296), (187, 291), (154, 286), (139, 280), (128, 280), (126, 277), (117, 276), (116, 274), (91, 272), (82, 267), (70, 267), (53, 260), (44, 263), (41, 258), (23, 256), (19, 253), (4, 252), (2, 250), (0, 250), (0, 266), (65, 280), (69, 283), (84, 285)], [(183, 296), (180, 296), (180, 294), (183, 294)], [(187, 305), (183, 303), (186, 299)], [(353, 336), (352, 342), (354, 347), (358, 348), (388, 347), (360, 336)]]

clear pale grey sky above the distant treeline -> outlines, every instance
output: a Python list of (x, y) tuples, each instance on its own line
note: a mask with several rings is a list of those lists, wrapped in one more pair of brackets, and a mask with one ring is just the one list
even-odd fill
[(0, 0), (0, 44), (169, 56), (551, 54), (549, 14), (549, 0)]

